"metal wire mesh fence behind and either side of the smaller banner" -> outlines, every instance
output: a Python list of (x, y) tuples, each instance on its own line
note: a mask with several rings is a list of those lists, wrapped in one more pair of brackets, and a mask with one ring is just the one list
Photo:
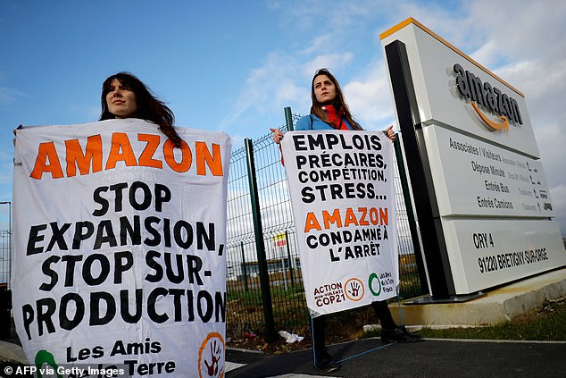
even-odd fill
[[(293, 115), (295, 123), (300, 118)], [(280, 130), (287, 130), (284, 125)], [(246, 332), (266, 331), (265, 291), (271, 296), (273, 325), (276, 330), (304, 329), (309, 315), (304, 297), (303, 278), (295, 248), (295, 223), (287, 189), (287, 179), (280, 163), (279, 147), (271, 133), (255, 139), (251, 148), (232, 153), (228, 197), (228, 303), (227, 336), (238, 338)], [(250, 181), (249, 160), (254, 160), (255, 181)], [(396, 165), (395, 165), (396, 166)], [(253, 186), (257, 185), (262, 242), (265, 249), (267, 277), (261, 280), (262, 251), (254, 232), (252, 209)], [(417, 262), (412, 248), (408, 214), (399, 172), (395, 169), (396, 221), (399, 237), (400, 297), (422, 294)], [(260, 246), (260, 249), (262, 247)], [(267, 287), (266, 287), (267, 286)], [(262, 292), (262, 290), (264, 290)], [(269, 303), (268, 303), (269, 306)], [(270, 310), (270, 309), (268, 309)]]

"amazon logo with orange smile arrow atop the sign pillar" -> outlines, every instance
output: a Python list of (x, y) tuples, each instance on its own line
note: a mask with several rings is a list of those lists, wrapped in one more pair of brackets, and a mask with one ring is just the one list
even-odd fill
[[(462, 97), (470, 98), (471, 106), (479, 118), (493, 130), (509, 131), (509, 122), (523, 124), (519, 104), (513, 97), (508, 96), (489, 82), (482, 82), (470, 71), (464, 71), (458, 63), (454, 64), (456, 73), (456, 88)], [(483, 111), (499, 116), (498, 121), (492, 121)]]

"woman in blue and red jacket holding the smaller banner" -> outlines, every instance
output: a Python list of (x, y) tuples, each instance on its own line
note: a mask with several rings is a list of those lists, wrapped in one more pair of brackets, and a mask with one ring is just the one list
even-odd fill
[[(336, 78), (327, 69), (320, 69), (314, 74), (311, 97), (311, 113), (296, 123), (295, 130), (362, 130), (362, 126), (354, 121)], [(279, 144), (283, 139), (283, 133), (279, 129), (271, 129), (271, 131), (273, 141)], [(389, 126), (384, 132), (388, 139), (395, 141), (393, 126)], [(371, 307), (379, 318), (383, 342), (421, 340), (419, 335), (407, 332), (404, 325), (398, 326), (395, 323), (386, 300), (373, 302)], [(314, 365), (327, 373), (337, 370), (339, 365), (330, 357), (325, 347), (324, 315), (312, 317), (311, 326)]]

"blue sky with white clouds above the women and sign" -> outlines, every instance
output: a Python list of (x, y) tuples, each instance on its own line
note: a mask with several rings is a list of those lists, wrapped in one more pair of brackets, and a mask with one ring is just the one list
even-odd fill
[[(1, 1), (0, 202), (12, 200), (12, 129), (93, 122), (106, 77), (130, 71), (177, 124), (240, 147), (308, 113), (328, 67), (366, 129), (395, 124), (379, 33), (413, 17), (525, 94), (566, 233), (566, 3), (512, 1)], [(7, 228), (0, 206), (0, 229)]]

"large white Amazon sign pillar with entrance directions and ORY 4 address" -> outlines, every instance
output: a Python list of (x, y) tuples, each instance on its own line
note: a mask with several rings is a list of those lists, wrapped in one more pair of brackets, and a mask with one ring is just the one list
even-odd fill
[(524, 95), (412, 18), (380, 38), (432, 298), (566, 265)]

